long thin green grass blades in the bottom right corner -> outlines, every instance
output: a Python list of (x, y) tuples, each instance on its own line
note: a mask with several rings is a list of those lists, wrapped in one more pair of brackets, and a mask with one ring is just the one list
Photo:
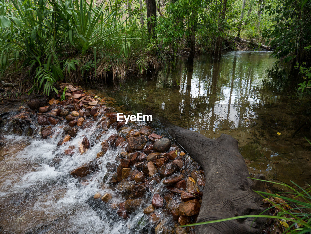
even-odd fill
[[(269, 210), (274, 207), (277, 207), (279, 209), (279, 212), (276, 213), (276, 216), (262, 215), (262, 214), (243, 215), (243, 216), (230, 217), (230, 218), (225, 218), (225, 219), (220, 219), (220, 220), (213, 220), (213, 221), (208, 221), (208, 222), (200, 222), (200, 223), (194, 223), (194, 224), (189, 224), (189, 225), (183, 225), (181, 227), (196, 226), (196, 225), (202, 225), (202, 224), (224, 222), (224, 221), (229, 221), (229, 220), (234, 220), (234, 219), (253, 217), (253, 218), (272, 218), (272, 219), (278, 220), (278, 223), (279, 223), (278, 225), (282, 225), (284, 227), (284, 231), (282, 232), (284, 234), (285, 233), (302, 234), (302, 233), (311, 232), (311, 214), (306, 211), (308, 209), (309, 210), (311, 209), (311, 186), (308, 185), (307, 189), (303, 189), (302, 187), (300, 187), (299, 185), (291, 181), (291, 183), (293, 183), (294, 186), (299, 188), (299, 189), (295, 189), (294, 187), (287, 185), (285, 183), (277, 183), (277, 182), (271, 182), (271, 181), (266, 181), (266, 180), (262, 180), (262, 181), (265, 181), (266, 183), (273, 183), (273, 184), (284, 186), (287, 189), (290, 189), (291, 191), (288, 195), (294, 196), (293, 198), (289, 198), (287, 196), (281, 196), (279, 194), (255, 191), (259, 193), (263, 198), (267, 199), (267, 197), (272, 197), (272, 198), (278, 199), (279, 201), (283, 201), (278, 204), (272, 202), (273, 206), (267, 209)], [(265, 210), (264, 212), (266, 212), (267, 210)]]

